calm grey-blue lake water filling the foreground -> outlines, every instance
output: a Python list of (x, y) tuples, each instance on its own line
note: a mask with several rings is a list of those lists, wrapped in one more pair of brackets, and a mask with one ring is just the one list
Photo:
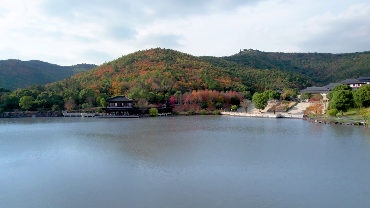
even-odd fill
[(370, 207), (370, 131), (228, 116), (0, 119), (0, 207)]

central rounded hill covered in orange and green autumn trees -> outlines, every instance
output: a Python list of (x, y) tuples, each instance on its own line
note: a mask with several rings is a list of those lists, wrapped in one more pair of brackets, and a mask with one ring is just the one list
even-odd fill
[(109, 95), (186, 92), (189, 90), (256, 90), (303, 88), (312, 80), (285, 70), (257, 70), (215, 57), (195, 57), (169, 49), (138, 51), (52, 85)]

